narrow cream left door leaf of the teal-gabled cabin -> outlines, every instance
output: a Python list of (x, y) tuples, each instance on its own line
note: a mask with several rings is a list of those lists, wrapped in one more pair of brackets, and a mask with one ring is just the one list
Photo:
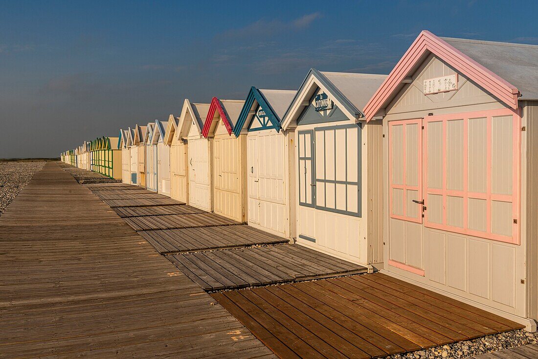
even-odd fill
[(249, 223), (259, 224), (258, 135), (247, 135), (246, 150)]

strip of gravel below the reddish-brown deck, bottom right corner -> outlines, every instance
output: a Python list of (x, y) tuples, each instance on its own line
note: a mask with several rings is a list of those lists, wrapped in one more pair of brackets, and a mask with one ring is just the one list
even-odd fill
[(422, 359), (422, 358), (466, 358), (469, 356), (490, 353), (507, 348), (538, 343), (538, 333), (528, 333), (525, 330), (512, 330), (512, 332), (484, 336), (473, 340), (466, 340), (448, 344), (441, 347), (422, 349), (407, 354), (387, 356), (389, 359)]

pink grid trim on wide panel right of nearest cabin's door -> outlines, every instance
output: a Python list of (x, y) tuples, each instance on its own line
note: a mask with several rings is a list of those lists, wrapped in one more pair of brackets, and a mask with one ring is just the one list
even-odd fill
[[(468, 236), (486, 238), (501, 241), (504, 243), (521, 244), (520, 238), (520, 196), (521, 196), (521, 111), (512, 111), (512, 109), (498, 109), (492, 111), (478, 111), (458, 114), (447, 115), (435, 115), (427, 116), (424, 118), (424, 143), (423, 143), (423, 157), (424, 157), (424, 198), (428, 198), (428, 194), (442, 195), (443, 196), (443, 223), (433, 223), (429, 221), (428, 211), (424, 212), (424, 226), (434, 228), (443, 231), (455, 232), (466, 234)], [(494, 116), (513, 116), (513, 148), (512, 148), (512, 162), (513, 162), (513, 177), (512, 177), (512, 195), (500, 195), (491, 193), (491, 173), (492, 173), (492, 118)], [(486, 118), (486, 192), (477, 193), (469, 192), (468, 190), (468, 176), (469, 176), (469, 157), (468, 157), (468, 139), (469, 119), (473, 118)], [(446, 137), (447, 137), (447, 121), (463, 119), (463, 136), (464, 136), (464, 155), (463, 155), (463, 177), (464, 185), (463, 190), (449, 190), (446, 184)], [(428, 124), (430, 122), (443, 122), (443, 188), (435, 189), (428, 188), (427, 172), (428, 172)], [(463, 198), (463, 228), (450, 226), (447, 224), (447, 197), (456, 196)], [(486, 231), (477, 231), (469, 229), (468, 223), (468, 200), (469, 198), (485, 199), (486, 201)], [(503, 236), (501, 234), (492, 233), (491, 231), (491, 205), (492, 201), (511, 202), (513, 218), (517, 223), (512, 224), (512, 236)], [(426, 206), (427, 203), (426, 203)]]

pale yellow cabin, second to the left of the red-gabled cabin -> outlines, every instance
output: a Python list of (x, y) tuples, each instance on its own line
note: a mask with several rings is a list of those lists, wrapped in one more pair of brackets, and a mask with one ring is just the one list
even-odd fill
[(170, 148), (170, 196), (187, 203), (187, 141), (179, 137), (179, 123), (179, 118), (169, 116), (164, 143)]

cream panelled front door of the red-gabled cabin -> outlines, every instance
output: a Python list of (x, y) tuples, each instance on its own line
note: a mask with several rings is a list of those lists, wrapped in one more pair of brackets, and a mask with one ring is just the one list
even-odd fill
[(213, 193), (215, 213), (242, 222), (238, 149), (239, 140), (235, 137), (213, 140)]

